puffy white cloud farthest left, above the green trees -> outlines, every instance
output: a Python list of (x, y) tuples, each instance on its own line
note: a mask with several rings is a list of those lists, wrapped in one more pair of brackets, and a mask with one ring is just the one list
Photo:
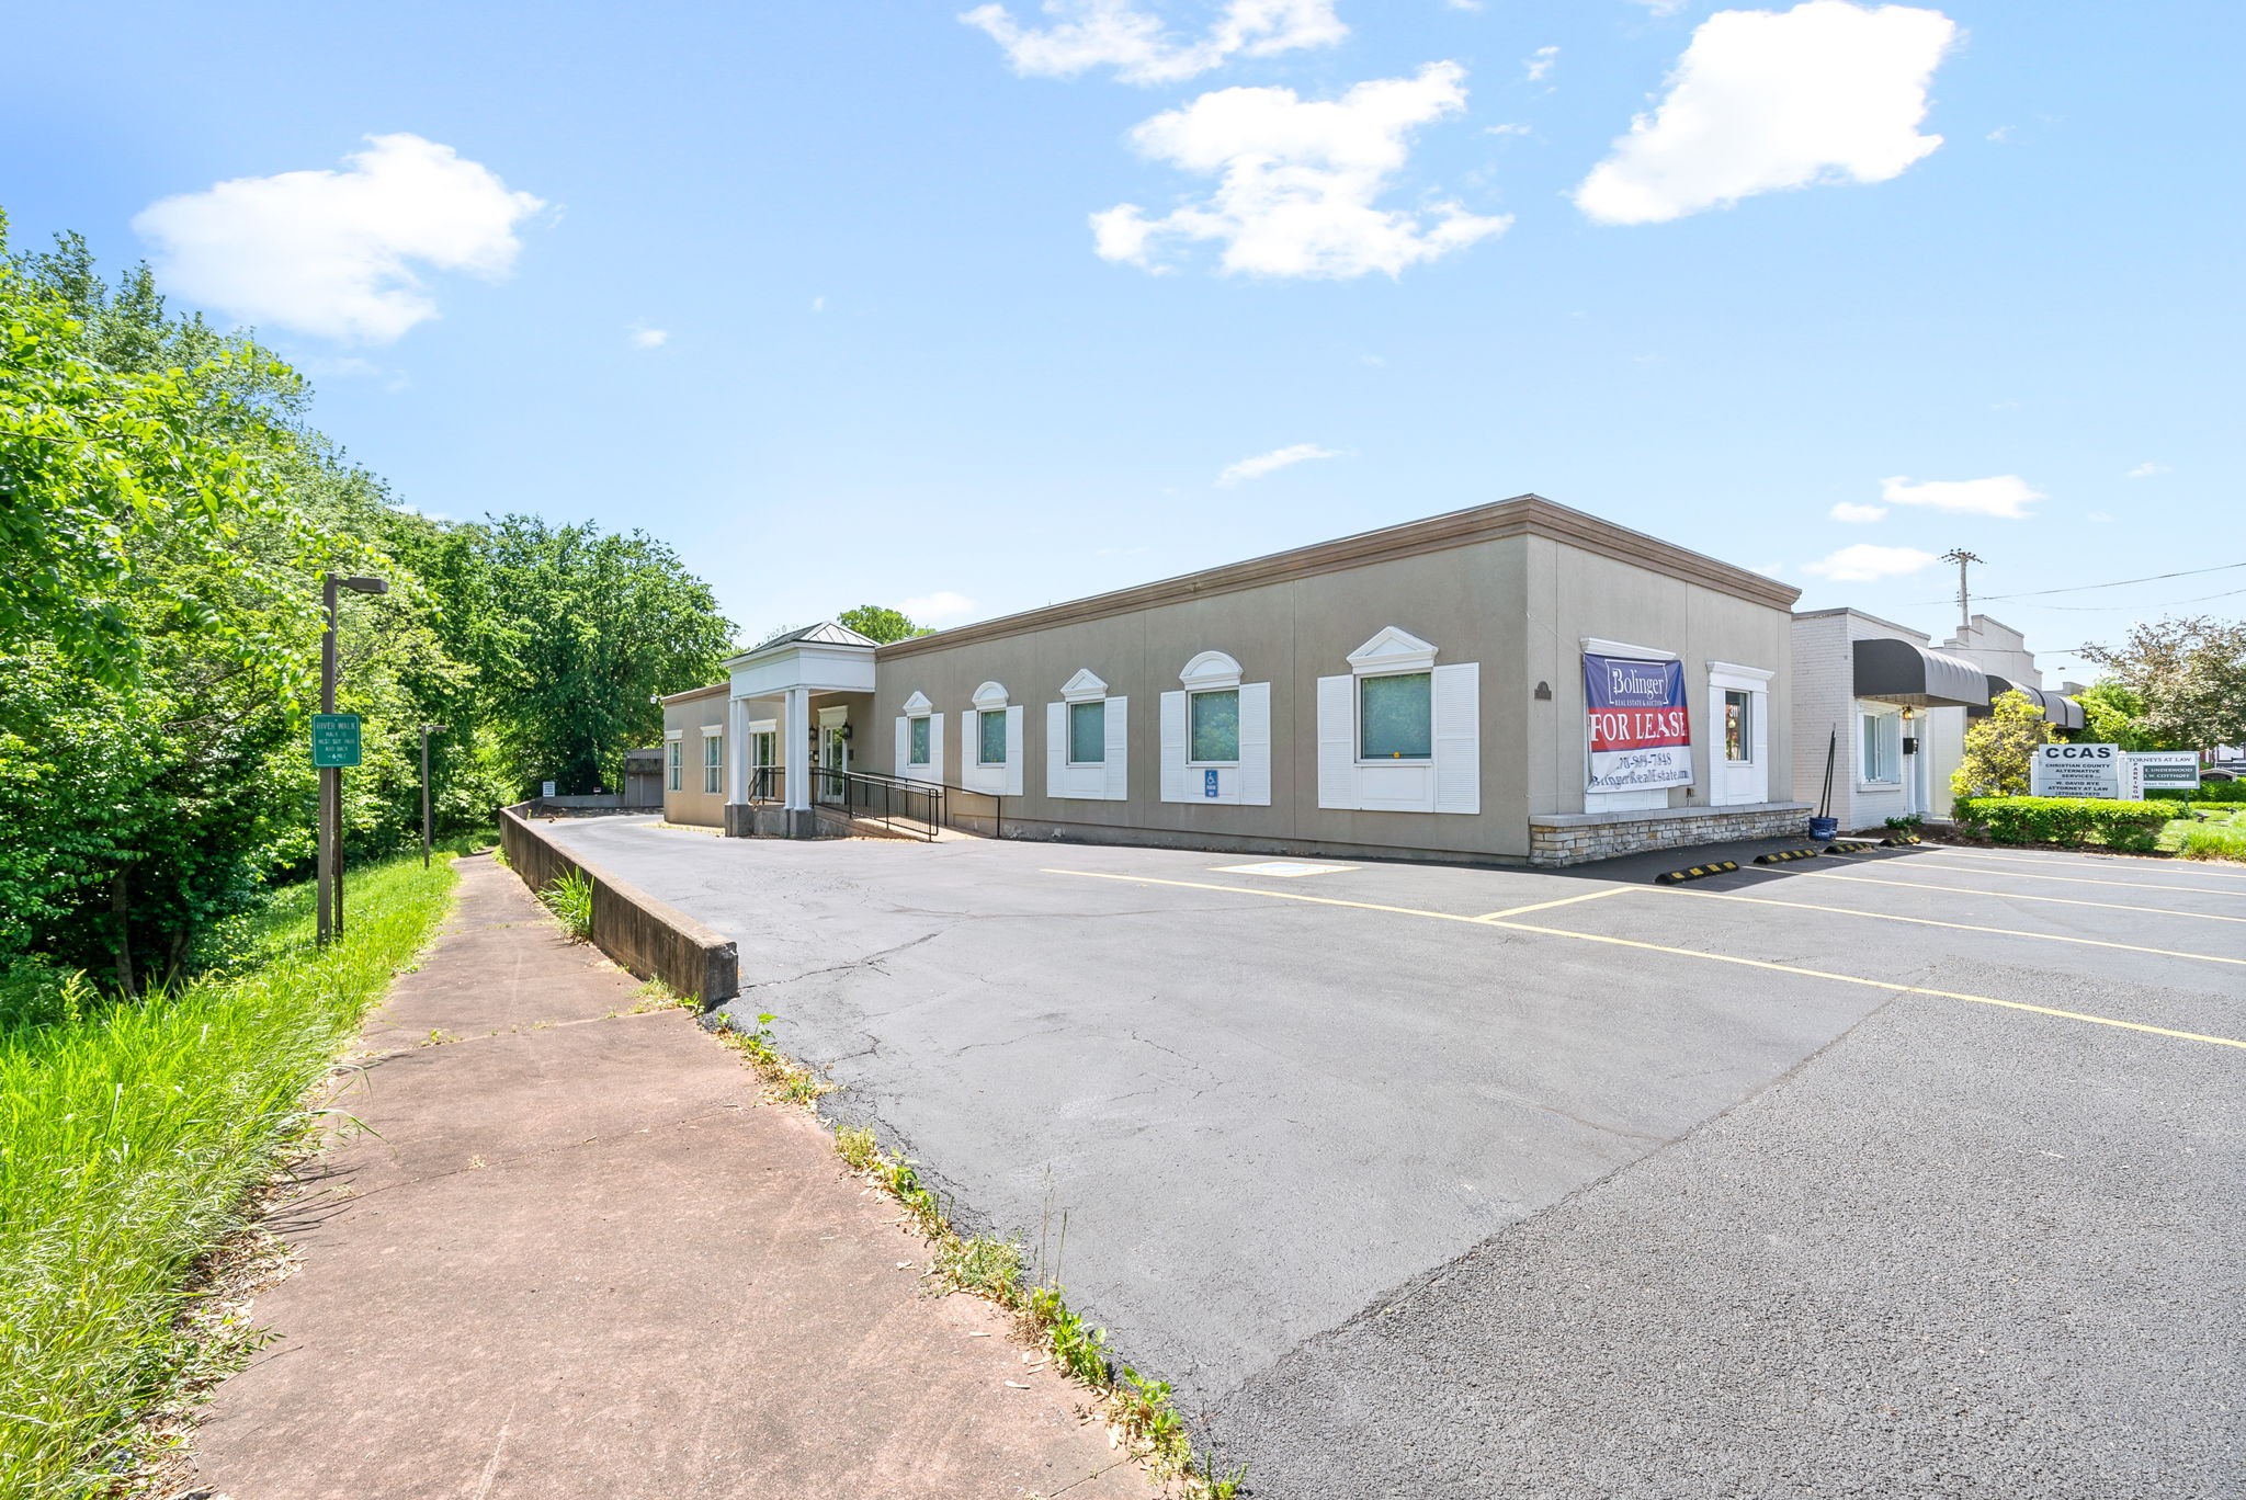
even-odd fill
[(389, 344), (438, 314), (416, 265), (492, 281), (544, 209), (418, 135), (371, 135), (346, 171), (231, 177), (133, 220), (166, 290), (252, 323)]

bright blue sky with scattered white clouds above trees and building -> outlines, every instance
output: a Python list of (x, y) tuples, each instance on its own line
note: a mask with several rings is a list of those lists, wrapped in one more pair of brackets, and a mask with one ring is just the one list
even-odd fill
[[(1525, 490), (1936, 633), (1954, 546), (2246, 559), (2230, 4), (968, 9), (45, 7), (0, 204), (254, 321), (402, 501), (645, 528), (743, 635)], [(2064, 674), (2239, 588), (1988, 609)]]

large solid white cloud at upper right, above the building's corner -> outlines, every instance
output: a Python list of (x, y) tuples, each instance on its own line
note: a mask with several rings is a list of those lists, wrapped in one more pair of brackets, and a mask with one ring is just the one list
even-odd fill
[(1943, 144), (1918, 124), (1954, 38), (1941, 11), (1902, 4), (1718, 11), (1574, 204), (1601, 225), (1660, 225), (1754, 193), (1900, 177)]

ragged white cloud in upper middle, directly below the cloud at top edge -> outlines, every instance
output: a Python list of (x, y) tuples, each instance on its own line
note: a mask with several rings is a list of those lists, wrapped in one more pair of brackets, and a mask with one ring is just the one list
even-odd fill
[(1404, 168), (1413, 132), (1467, 108), (1464, 76), (1458, 63), (1428, 63), (1417, 76), (1372, 79), (1309, 103), (1291, 88), (1226, 88), (1157, 115), (1132, 130), (1132, 144), (1220, 182), (1161, 218), (1130, 202), (1094, 213), (1094, 249), (1161, 269), (1163, 245), (1217, 240), (1226, 272), (1345, 278), (1395, 276), (1503, 234), (1512, 216), (1467, 213), (1458, 202), (1375, 207)]

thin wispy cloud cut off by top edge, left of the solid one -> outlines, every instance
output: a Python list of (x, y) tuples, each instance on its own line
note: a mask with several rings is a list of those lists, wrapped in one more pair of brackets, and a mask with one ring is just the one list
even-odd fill
[(1350, 34), (1334, 16), (1334, 0), (1229, 0), (1199, 40), (1179, 40), (1134, 0), (1044, 0), (1042, 9), (1053, 18), (1042, 31), (1024, 29), (1004, 4), (977, 4), (959, 20), (1004, 47), (1017, 74), (1074, 79), (1114, 67), (1125, 83), (1177, 83), (1235, 54), (1332, 47)]

